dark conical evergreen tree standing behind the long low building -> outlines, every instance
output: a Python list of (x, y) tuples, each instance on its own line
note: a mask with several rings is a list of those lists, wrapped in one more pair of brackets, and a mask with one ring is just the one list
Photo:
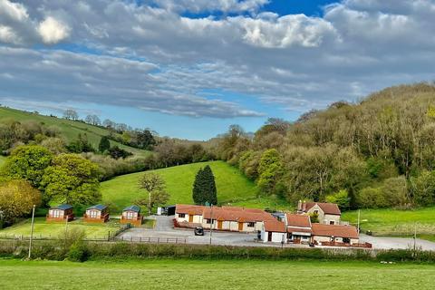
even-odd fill
[(209, 166), (199, 169), (193, 183), (192, 198), (197, 205), (218, 204), (215, 176)]

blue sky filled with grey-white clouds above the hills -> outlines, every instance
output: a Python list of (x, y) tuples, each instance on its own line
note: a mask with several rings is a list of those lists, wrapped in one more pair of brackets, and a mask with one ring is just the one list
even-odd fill
[(0, 0), (0, 103), (208, 140), (432, 82), (435, 0)]

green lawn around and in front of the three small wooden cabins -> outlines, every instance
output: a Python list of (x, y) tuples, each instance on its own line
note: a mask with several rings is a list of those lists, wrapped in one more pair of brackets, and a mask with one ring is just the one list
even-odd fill
[[(46, 223), (45, 218), (34, 218), (34, 235), (43, 237), (60, 237), (65, 232), (64, 223)], [(0, 230), (0, 237), (2, 235), (30, 235), (31, 220), (26, 219), (23, 222), (17, 223), (12, 227), (6, 227)], [(108, 233), (114, 233), (120, 228), (119, 221), (114, 219), (105, 224), (88, 224), (82, 221), (74, 220), (68, 223), (68, 229), (82, 228), (86, 237), (107, 237)]]

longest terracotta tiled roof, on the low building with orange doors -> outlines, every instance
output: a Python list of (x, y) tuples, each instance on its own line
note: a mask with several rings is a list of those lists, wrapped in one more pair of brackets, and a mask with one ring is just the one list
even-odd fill
[(231, 207), (213, 207), (213, 211), (211, 208), (204, 208), (203, 218), (213, 218), (218, 220), (229, 220), (238, 222), (275, 220), (272, 215), (266, 213), (266, 211), (263, 210), (255, 210), (254, 212), (252, 212), (244, 208), (240, 210), (240, 208), (234, 209)]

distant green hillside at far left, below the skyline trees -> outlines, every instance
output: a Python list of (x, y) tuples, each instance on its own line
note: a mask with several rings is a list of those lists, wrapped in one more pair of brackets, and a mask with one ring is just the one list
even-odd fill
[[(93, 148), (98, 148), (98, 144), (104, 135), (109, 135), (109, 131), (98, 126), (83, 123), (81, 121), (69, 121), (61, 118), (38, 115), (27, 111), (14, 110), (0, 107), (0, 120), (13, 119), (16, 121), (38, 121), (43, 122), (46, 126), (56, 126), (61, 131), (63, 138), (67, 142), (76, 140), (79, 134), (86, 134), (88, 140), (92, 143)], [(136, 155), (148, 155), (150, 151), (139, 150), (129, 146), (122, 145), (118, 142), (111, 141), (112, 145), (118, 145), (124, 150), (131, 151)]]

